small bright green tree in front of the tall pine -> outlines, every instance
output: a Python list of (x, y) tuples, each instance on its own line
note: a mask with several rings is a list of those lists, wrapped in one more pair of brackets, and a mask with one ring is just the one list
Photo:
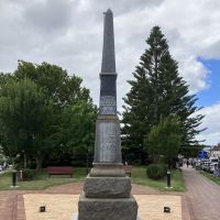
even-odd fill
[(144, 141), (147, 151), (154, 162), (158, 163), (160, 156), (170, 165), (177, 157), (182, 144), (180, 127), (177, 118), (161, 118), (158, 124), (153, 127), (147, 139)]

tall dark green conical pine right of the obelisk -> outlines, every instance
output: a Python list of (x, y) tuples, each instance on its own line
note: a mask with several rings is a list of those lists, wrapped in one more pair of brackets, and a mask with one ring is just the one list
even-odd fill
[(148, 47), (129, 80), (131, 90), (123, 98), (122, 144), (125, 157), (140, 158), (144, 163), (144, 139), (161, 117), (176, 116), (180, 120), (184, 146), (197, 143), (196, 135), (204, 116), (196, 114), (196, 96), (179, 76), (177, 62), (168, 51), (168, 44), (160, 26), (154, 26), (146, 40)]

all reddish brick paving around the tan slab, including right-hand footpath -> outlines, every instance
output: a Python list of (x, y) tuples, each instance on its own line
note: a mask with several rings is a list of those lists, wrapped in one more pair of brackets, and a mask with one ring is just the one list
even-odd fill
[[(193, 168), (183, 168), (187, 191), (182, 196), (183, 220), (220, 220), (220, 186), (213, 184)], [(25, 220), (23, 194), (80, 194), (82, 184), (73, 183), (45, 190), (0, 191), (0, 220)], [(150, 187), (133, 185), (134, 195), (162, 195)]]

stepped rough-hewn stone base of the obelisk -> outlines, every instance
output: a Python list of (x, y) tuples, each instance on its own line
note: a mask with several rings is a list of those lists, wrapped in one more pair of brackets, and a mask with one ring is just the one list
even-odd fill
[(122, 164), (95, 163), (84, 184), (77, 220), (136, 220), (138, 204)]

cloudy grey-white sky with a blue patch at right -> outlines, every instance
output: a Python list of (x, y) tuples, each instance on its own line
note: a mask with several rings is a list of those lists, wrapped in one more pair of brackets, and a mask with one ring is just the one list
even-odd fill
[(0, 72), (18, 61), (47, 62), (76, 74), (98, 105), (103, 34), (102, 12), (114, 14), (118, 109), (129, 91), (127, 80), (160, 25), (179, 74), (205, 114), (197, 136), (220, 142), (220, 1), (219, 0), (0, 0)]

